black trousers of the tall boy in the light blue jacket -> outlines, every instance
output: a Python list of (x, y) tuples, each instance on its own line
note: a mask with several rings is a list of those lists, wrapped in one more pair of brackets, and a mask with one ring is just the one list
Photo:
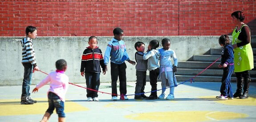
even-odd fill
[(121, 95), (126, 95), (126, 63), (120, 65), (115, 63), (110, 63), (111, 67), (111, 87), (112, 87), (112, 96), (118, 96), (117, 92), (117, 81), (119, 78), (119, 91)]

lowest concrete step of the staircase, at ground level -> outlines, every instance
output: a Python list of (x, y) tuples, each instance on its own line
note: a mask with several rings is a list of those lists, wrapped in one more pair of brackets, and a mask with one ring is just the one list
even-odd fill
[[(177, 81), (187, 81), (191, 79), (193, 76), (185, 76), (185, 75), (176, 75)], [(206, 82), (221, 82), (222, 76), (196, 76), (193, 80), (197, 81), (206, 81)], [(256, 78), (251, 78), (252, 82), (256, 81)], [(188, 81), (190, 82), (190, 80)], [(231, 77), (231, 82), (236, 82), (236, 77)]]

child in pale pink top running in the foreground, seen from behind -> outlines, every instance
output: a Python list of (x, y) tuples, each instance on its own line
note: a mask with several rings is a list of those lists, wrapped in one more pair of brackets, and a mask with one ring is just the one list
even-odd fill
[(60, 59), (56, 61), (55, 65), (57, 70), (50, 72), (49, 75), (33, 89), (33, 92), (38, 92), (39, 88), (50, 83), (50, 88), (47, 92), (49, 107), (41, 122), (48, 122), (54, 109), (56, 109), (56, 113), (58, 114), (58, 122), (65, 122), (64, 102), (69, 87), (69, 77), (64, 74), (67, 70), (67, 62), (64, 59)]

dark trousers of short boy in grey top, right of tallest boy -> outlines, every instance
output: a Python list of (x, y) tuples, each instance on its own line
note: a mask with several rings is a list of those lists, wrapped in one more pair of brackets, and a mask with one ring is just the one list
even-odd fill
[[(135, 86), (135, 94), (145, 93), (145, 85), (146, 85), (146, 71), (137, 71), (136, 70), (136, 86)], [(144, 94), (141, 94), (144, 95)], [(135, 97), (139, 97), (141, 95), (135, 95)]]

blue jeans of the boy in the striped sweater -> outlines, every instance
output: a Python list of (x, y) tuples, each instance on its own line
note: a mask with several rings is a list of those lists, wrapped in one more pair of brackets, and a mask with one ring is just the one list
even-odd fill
[(22, 83), (22, 93), (21, 96), (29, 96), (29, 90), (30, 87), (29, 85), (31, 84), (32, 81), (32, 71), (33, 71), (33, 65), (30, 63), (23, 63), (24, 66), (24, 78), (23, 78), (23, 83)]

